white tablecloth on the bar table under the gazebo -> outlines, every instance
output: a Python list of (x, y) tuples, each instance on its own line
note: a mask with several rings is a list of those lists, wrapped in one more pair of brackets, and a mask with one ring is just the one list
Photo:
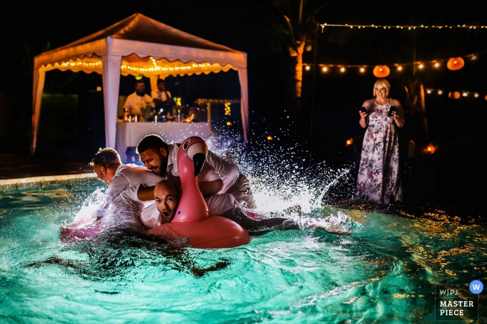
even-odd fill
[(141, 139), (149, 134), (157, 134), (166, 143), (181, 143), (190, 136), (199, 136), (206, 140), (210, 137), (208, 123), (117, 123), (116, 150), (123, 163), (127, 161), (127, 147), (137, 146)]

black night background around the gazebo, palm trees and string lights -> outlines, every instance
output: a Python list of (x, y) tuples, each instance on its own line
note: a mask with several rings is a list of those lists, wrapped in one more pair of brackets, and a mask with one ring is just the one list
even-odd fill
[[(4, 45), (0, 50), (0, 93), (8, 94), (8, 101), (15, 108), (8, 112), (2, 110), (3, 119), (9, 122), (0, 123), (0, 127), (4, 127), (0, 137), (4, 138), (3, 142), (8, 139), (10, 144), (2, 144), (0, 150), (18, 153), (28, 150), (34, 56), (76, 41), (138, 12), (248, 53), (250, 119), (257, 138), (267, 134), (280, 136), (280, 129), (291, 127), (287, 141), (307, 143), (310, 136), (295, 136), (293, 129), (310, 129), (309, 116), (311, 107), (314, 107), (314, 161), (329, 160), (335, 165), (356, 163), (360, 145), (355, 152), (351, 152), (343, 147), (343, 141), (346, 138), (360, 141), (363, 136), (363, 130), (358, 125), (358, 109), (364, 100), (372, 98), (372, 87), (376, 80), (372, 68), (368, 68), (364, 74), (356, 68), (349, 68), (345, 73), (340, 73), (336, 68), (326, 74), (317, 71), (315, 82), (312, 72), (305, 71), (301, 103), (304, 117), (301, 125), (290, 126), (289, 119), (285, 118), (293, 107), (289, 102), (293, 75), (290, 73), (292, 61), (279, 30), (285, 26), (282, 14), (295, 19), (298, 3), (263, 0), (179, 0), (119, 5), (113, 2), (59, 2), (28, 6), (21, 2), (10, 3), (10, 10), (3, 10), (0, 18), (3, 31), (0, 37)], [(310, 19), (310, 13), (325, 3), (305, 1), (305, 19)], [(282, 11), (274, 4), (278, 4)], [(329, 24), (481, 25), (487, 24), (484, 12), (480, 10), (481, 4), (481, 1), (454, 4), (444, 1), (330, 1), (314, 17), (319, 23)], [(487, 108), (487, 101), (483, 99), (487, 95), (487, 28), (422, 29), (413, 34), (409, 30), (397, 29), (327, 27), (317, 37), (317, 63), (375, 65), (412, 62), (414, 39), (416, 61), (477, 54), (477, 60), (466, 60), (462, 70), (449, 71), (445, 66), (435, 70), (428, 66), (419, 73), (419, 78), (425, 88), (441, 89), (446, 93), (478, 92), (480, 98), (455, 101), (446, 96), (427, 95), (430, 131), (425, 141), (436, 141), (439, 148), (435, 156), (414, 161), (404, 158), (402, 168), (405, 177), (421, 172), (433, 175), (430, 180), (425, 180), (427, 183), (406, 185), (409, 185), (411, 192), (416, 185), (428, 187), (428, 183), (431, 183), (429, 189), (422, 191), (422, 199), (430, 199), (439, 205), (455, 200), (453, 207), (465, 210), (474, 206), (475, 210), (479, 210), (481, 194), (476, 188), (484, 178), (481, 157), (485, 136), (481, 126)], [(312, 44), (312, 50), (304, 53), (305, 63), (314, 61), (314, 51), (315, 44)], [(405, 92), (401, 85), (404, 78), (410, 75), (407, 73), (410, 71), (404, 71), (401, 75), (392, 71), (388, 77), (392, 85), (391, 97), (402, 102)], [(48, 72), (45, 92), (76, 94), (101, 85), (101, 76), (82, 74)], [(184, 97), (187, 102), (198, 97), (239, 98), (236, 72), (168, 78), (166, 83), (173, 94)], [(132, 86), (133, 79), (122, 78), (121, 94), (132, 92)], [(400, 132), (403, 155), (410, 137), (408, 132), (407, 129)], [(409, 166), (404, 165), (408, 162)], [(417, 165), (414, 170), (410, 169), (413, 164)]]

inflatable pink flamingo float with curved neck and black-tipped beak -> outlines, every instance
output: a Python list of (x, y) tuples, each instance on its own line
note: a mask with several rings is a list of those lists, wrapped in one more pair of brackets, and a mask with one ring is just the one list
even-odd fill
[(178, 151), (178, 169), (182, 195), (175, 217), (170, 223), (157, 226), (148, 234), (177, 241), (187, 237), (193, 248), (234, 248), (249, 242), (247, 230), (232, 220), (208, 215), (208, 207), (198, 188), (198, 174), (203, 167), (208, 148), (197, 136), (187, 138)]

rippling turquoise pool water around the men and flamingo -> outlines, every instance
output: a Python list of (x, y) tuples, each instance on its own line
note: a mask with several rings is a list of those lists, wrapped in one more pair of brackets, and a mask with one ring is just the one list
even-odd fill
[(342, 210), (362, 226), (350, 236), (272, 231), (222, 250), (124, 235), (60, 242), (99, 187), (0, 193), (0, 322), (428, 323), (435, 284), (487, 283), (482, 226), (327, 205), (307, 213)]

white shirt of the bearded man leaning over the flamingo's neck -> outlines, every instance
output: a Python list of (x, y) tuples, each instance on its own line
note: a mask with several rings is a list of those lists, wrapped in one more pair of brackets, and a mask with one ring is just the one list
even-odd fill
[[(167, 173), (173, 176), (179, 177), (178, 170), (178, 151), (179, 146), (176, 143), (167, 144), (168, 156), (167, 156)], [(213, 181), (222, 179), (223, 189), (218, 193), (226, 192), (238, 179), (240, 171), (234, 164), (228, 163), (223, 158), (208, 150), (206, 154), (205, 163), (203, 169), (198, 177), (198, 182)]]

